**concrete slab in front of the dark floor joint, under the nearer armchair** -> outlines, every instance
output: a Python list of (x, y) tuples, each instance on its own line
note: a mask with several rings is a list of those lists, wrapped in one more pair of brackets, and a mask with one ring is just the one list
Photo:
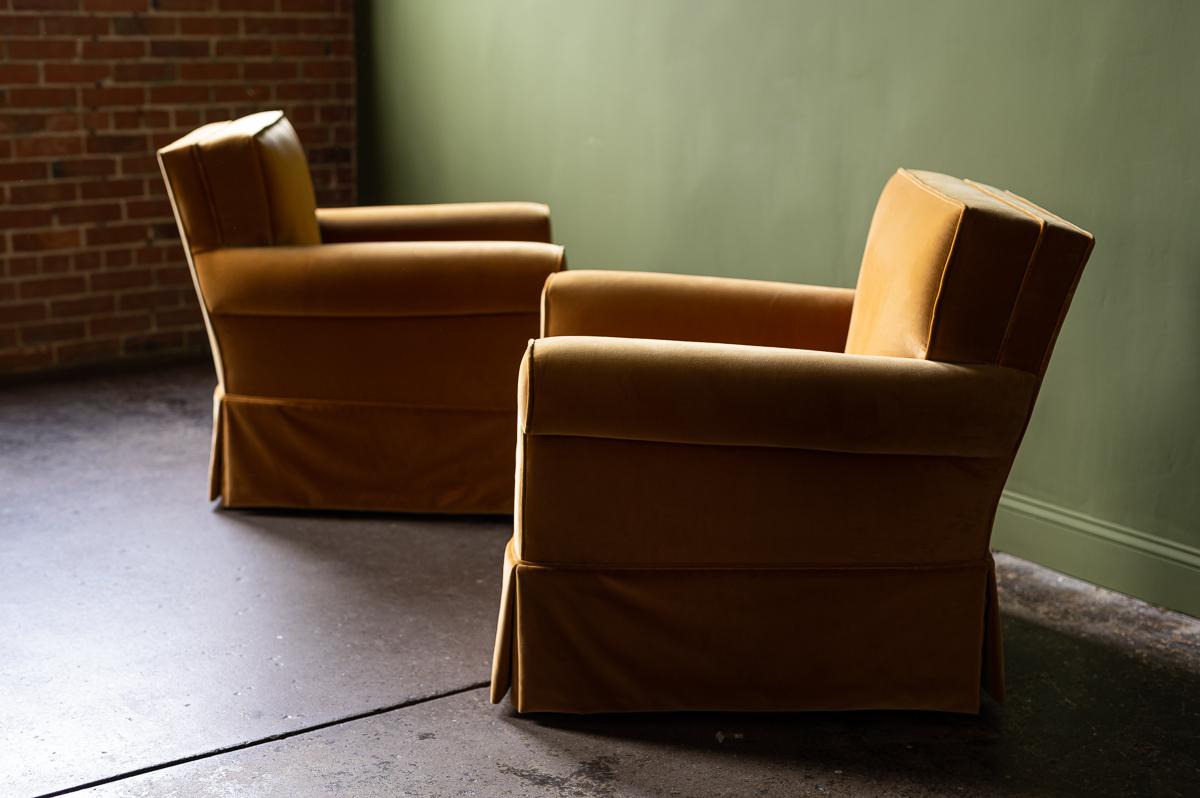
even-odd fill
[(1200, 622), (1014, 558), (1000, 572), (1010, 696), (978, 718), (521, 718), (474, 690), (85, 794), (1200, 794)]

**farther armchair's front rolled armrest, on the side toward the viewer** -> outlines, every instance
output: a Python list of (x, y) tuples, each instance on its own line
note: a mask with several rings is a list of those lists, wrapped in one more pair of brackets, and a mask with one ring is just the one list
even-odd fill
[(521, 241), (227, 248), (194, 258), (212, 316), (530, 313), (563, 247)]

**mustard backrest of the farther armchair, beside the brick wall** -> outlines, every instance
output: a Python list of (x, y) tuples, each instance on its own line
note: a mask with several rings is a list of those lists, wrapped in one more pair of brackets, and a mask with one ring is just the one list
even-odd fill
[(281, 110), (199, 127), (158, 163), (192, 252), (320, 244), (308, 161)]

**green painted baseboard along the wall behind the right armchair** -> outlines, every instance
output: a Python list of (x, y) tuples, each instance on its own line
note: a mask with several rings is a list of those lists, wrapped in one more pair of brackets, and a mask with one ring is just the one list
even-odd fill
[(1006, 491), (992, 548), (1200, 618), (1200, 548)]

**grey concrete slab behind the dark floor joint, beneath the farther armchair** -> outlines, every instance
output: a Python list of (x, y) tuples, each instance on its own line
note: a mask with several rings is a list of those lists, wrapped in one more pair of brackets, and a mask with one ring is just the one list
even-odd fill
[(0, 796), (487, 678), (511, 521), (221, 511), (212, 384), (0, 390)]

